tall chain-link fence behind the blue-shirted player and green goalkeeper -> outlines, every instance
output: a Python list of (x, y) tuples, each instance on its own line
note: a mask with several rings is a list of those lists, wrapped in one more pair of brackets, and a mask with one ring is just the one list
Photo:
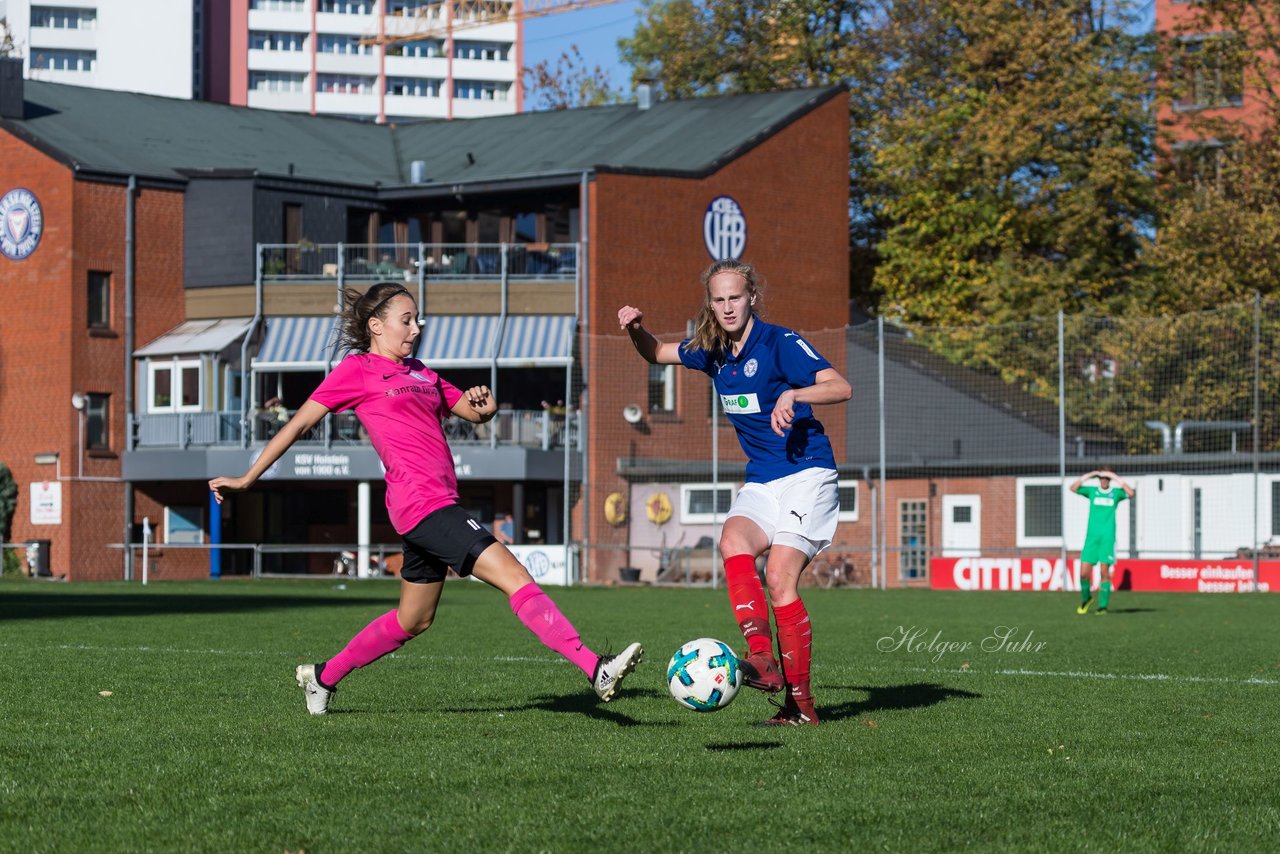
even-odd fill
[[(1174, 318), (804, 330), (854, 388), (847, 405), (817, 407), (841, 521), (808, 581), (923, 585), (963, 566), (960, 586), (1050, 584), (1078, 560), (1089, 502), (1070, 485), (1094, 470), (1135, 490), (1116, 512), (1117, 557), (1270, 557), (1277, 330), (1280, 305), (1262, 301)], [(710, 382), (648, 365), (621, 334), (590, 335), (588, 352), (593, 462), (572, 536), (582, 577), (714, 584), (745, 456)]]

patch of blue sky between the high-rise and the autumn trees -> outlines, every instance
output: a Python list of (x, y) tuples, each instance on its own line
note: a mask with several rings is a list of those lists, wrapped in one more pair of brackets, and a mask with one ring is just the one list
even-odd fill
[(563, 12), (525, 22), (526, 67), (556, 59), (577, 45), (588, 68), (599, 65), (613, 88), (630, 90), (631, 69), (618, 59), (618, 38), (630, 36), (639, 20), (640, 0), (622, 0), (595, 9)]

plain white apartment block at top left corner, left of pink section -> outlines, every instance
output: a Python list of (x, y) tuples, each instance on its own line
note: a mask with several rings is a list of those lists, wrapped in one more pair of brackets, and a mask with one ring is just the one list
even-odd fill
[(23, 76), (51, 83), (192, 97), (198, 0), (8, 0)]

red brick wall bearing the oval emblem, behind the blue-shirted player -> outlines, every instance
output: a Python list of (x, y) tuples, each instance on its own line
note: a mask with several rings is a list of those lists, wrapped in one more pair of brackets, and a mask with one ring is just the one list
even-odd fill
[[(590, 196), (589, 332), (622, 335), (617, 310), (635, 305), (645, 325), (666, 339), (678, 337), (704, 298), (698, 277), (712, 262), (703, 242), (703, 215), (717, 196), (742, 206), (748, 223), (744, 257), (763, 273), (763, 316), (797, 330), (842, 329), (849, 314), (849, 104), (836, 96), (776, 136), (701, 179), (602, 174)], [(625, 342), (625, 338), (623, 338)], [(626, 344), (630, 347), (630, 344)], [(709, 392), (698, 376), (680, 376), (680, 417), (654, 423), (648, 435), (620, 433), (623, 406), (644, 401), (646, 370), (639, 356), (620, 369), (616, 355), (595, 347), (586, 411), (593, 452), (588, 540), (622, 544), (627, 529), (604, 521), (604, 497), (626, 483), (618, 457), (707, 460)], [(844, 362), (842, 335), (819, 344), (833, 365)], [(684, 373), (684, 371), (678, 371)], [(844, 435), (841, 407), (823, 408), (827, 433)], [(731, 428), (719, 437), (722, 458), (739, 453)], [(837, 447), (837, 461), (841, 453)], [(576, 517), (580, 521), (581, 516)], [(575, 530), (582, 530), (575, 528)], [(589, 566), (593, 579), (611, 577), (621, 561), (607, 554)]]

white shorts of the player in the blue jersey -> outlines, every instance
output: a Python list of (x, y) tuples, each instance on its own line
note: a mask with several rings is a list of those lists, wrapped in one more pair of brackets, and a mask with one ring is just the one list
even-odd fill
[(836, 535), (838, 478), (835, 469), (804, 469), (769, 483), (746, 484), (733, 498), (728, 517), (749, 519), (769, 538), (769, 545), (788, 545), (813, 560)]

